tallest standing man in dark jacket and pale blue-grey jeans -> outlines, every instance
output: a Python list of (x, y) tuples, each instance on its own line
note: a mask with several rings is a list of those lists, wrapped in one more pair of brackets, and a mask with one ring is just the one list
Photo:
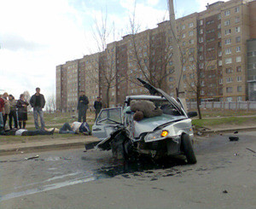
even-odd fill
[(38, 125), (38, 114), (39, 114), (40, 122), (41, 122), (41, 130), (44, 131), (45, 124), (44, 124), (43, 108), (45, 105), (45, 100), (44, 100), (44, 95), (40, 94), (40, 88), (37, 88), (36, 91), (37, 91), (36, 94), (34, 94), (30, 99), (30, 104), (33, 107), (33, 115), (34, 115), (36, 129), (37, 130), (39, 129), (39, 125)]

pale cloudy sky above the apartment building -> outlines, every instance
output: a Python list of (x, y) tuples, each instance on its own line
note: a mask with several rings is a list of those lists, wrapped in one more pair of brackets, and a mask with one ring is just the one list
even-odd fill
[[(173, 2), (179, 18), (216, 1)], [(54, 96), (56, 66), (96, 52), (96, 22), (107, 14), (119, 40), (131, 31), (134, 8), (142, 31), (169, 20), (166, 0), (0, 0), (0, 94), (18, 99), (40, 87), (46, 100)]]

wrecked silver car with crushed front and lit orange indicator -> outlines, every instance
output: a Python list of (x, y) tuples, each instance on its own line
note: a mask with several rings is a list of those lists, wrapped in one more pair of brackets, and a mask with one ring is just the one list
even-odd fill
[[(111, 149), (114, 158), (125, 160), (142, 154), (154, 159), (183, 154), (189, 164), (195, 164), (192, 146), (194, 134), (190, 118), (197, 113), (186, 113), (180, 99), (175, 100), (163, 90), (143, 79), (137, 79), (149, 90), (150, 95), (126, 96), (124, 109), (102, 109), (92, 126), (92, 135), (102, 140), (96, 148)], [(161, 113), (136, 120), (131, 103), (137, 101), (153, 102), (155, 109), (160, 108)]]

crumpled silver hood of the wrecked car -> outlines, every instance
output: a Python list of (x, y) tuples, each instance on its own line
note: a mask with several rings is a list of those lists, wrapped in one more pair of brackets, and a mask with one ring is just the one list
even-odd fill
[(168, 114), (162, 114), (160, 116), (156, 116), (153, 118), (144, 118), (141, 121), (135, 121), (134, 131), (135, 137), (138, 137), (143, 132), (154, 131), (160, 125), (168, 125), (173, 121), (177, 121), (179, 119), (187, 119), (185, 116), (173, 116)]

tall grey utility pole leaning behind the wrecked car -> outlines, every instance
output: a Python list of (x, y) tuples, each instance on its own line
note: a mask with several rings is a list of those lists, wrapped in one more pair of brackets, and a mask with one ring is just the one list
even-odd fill
[(184, 98), (184, 85), (183, 85), (183, 69), (181, 64), (181, 49), (177, 40), (177, 28), (176, 28), (176, 20), (174, 14), (173, 0), (167, 0), (169, 6), (169, 17), (170, 17), (170, 25), (172, 31), (172, 40), (173, 40), (173, 61), (175, 67), (175, 77), (176, 77), (176, 96), (180, 98)]

